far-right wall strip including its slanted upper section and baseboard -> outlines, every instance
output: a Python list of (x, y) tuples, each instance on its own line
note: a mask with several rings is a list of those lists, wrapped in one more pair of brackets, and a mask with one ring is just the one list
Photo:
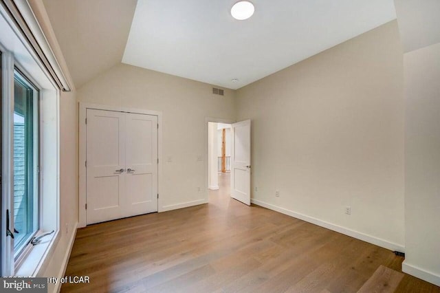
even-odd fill
[(405, 45), (404, 272), (440, 285), (440, 1), (396, 0)]

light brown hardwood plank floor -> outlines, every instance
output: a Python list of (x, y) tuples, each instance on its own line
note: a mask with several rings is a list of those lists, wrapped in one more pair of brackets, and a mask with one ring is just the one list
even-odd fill
[(440, 292), (402, 276), (389, 250), (245, 206), (230, 199), (228, 174), (219, 183), (209, 204), (78, 230), (66, 276), (90, 283), (61, 291)]

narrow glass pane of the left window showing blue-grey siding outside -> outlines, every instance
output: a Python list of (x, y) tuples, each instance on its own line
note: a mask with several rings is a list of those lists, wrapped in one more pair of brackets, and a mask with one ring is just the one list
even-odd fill
[(39, 230), (39, 91), (14, 73), (14, 259)]

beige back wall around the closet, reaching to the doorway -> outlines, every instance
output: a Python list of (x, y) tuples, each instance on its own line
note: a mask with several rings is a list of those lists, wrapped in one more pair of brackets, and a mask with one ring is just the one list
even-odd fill
[(164, 189), (159, 191), (159, 210), (206, 202), (206, 118), (234, 119), (234, 91), (213, 95), (211, 85), (120, 64), (80, 87), (78, 100), (162, 111)]

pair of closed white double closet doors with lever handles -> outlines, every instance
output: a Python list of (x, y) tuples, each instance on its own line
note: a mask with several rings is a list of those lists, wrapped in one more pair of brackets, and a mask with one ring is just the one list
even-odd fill
[(87, 224), (157, 211), (157, 116), (87, 109), (86, 132)]

